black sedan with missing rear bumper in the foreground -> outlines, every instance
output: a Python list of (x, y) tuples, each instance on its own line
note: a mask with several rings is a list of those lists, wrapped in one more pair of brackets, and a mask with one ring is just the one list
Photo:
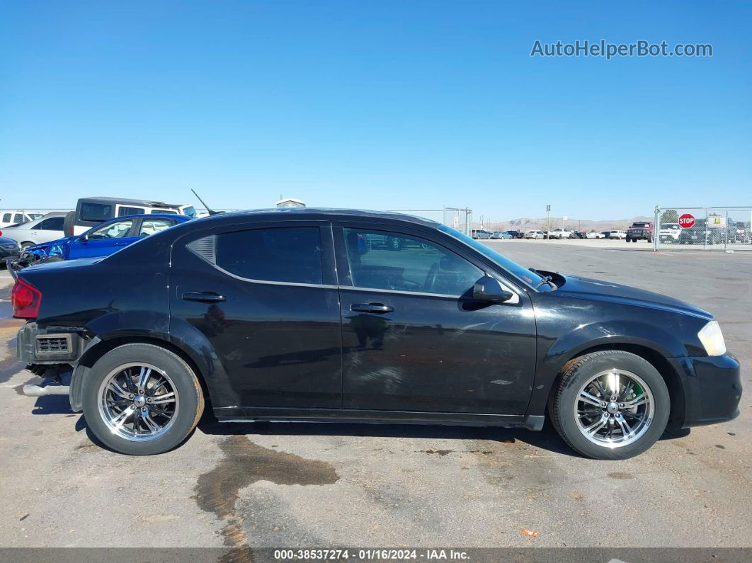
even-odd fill
[[(410, 241), (401, 252), (364, 244)], [(381, 240), (381, 239), (380, 239)], [(21, 271), (18, 355), (122, 453), (220, 421), (517, 426), (626, 459), (668, 428), (738, 414), (738, 362), (710, 313), (523, 268), (392, 213), (226, 213), (104, 259)], [(27, 386), (29, 395), (65, 392)]]

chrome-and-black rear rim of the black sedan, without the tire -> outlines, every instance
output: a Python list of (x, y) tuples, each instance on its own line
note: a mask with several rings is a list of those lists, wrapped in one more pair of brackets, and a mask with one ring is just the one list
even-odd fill
[(180, 401), (164, 371), (135, 362), (112, 370), (99, 386), (99, 415), (113, 434), (147, 442), (165, 434)]

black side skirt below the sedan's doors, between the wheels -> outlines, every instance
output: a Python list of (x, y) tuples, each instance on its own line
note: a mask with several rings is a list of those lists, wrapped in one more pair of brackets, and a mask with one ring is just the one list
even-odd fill
[(221, 407), (214, 409), (219, 422), (354, 422), (366, 424), (438, 424), (501, 426), (541, 430), (542, 415), (426, 413), (404, 410), (296, 409)]

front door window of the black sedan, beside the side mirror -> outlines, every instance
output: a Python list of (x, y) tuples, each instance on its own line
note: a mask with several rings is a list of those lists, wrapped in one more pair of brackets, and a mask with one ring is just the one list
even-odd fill
[(484, 274), (423, 238), (344, 229), (353, 285), (372, 289), (462, 295)]

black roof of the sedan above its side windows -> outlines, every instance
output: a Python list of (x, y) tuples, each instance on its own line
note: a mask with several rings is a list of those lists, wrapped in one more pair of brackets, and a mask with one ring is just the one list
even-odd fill
[(376, 220), (388, 220), (393, 222), (410, 223), (411, 225), (421, 225), (425, 227), (431, 227), (432, 229), (438, 228), (441, 225), (440, 222), (426, 219), (425, 217), (418, 217), (414, 215), (408, 215), (407, 213), (396, 213), (393, 211), (369, 211), (361, 209), (330, 209), (326, 207), (274, 207), (271, 209), (249, 209), (243, 211), (229, 211), (227, 213), (217, 213), (209, 217), (199, 219), (200, 221), (221, 221), (226, 219), (242, 219), (247, 217), (254, 220), (284, 220), (284, 219), (376, 219)]

